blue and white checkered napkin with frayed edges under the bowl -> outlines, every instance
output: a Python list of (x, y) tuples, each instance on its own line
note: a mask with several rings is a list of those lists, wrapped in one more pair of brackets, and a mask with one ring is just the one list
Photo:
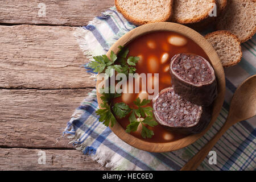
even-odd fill
[[(79, 28), (77, 40), (90, 60), (105, 54), (110, 46), (126, 32), (135, 28), (113, 7), (102, 16), (94, 18), (88, 26)], [(79, 106), (67, 124), (64, 133), (84, 154), (115, 170), (179, 170), (221, 128), (228, 115), (229, 103), (237, 86), (256, 73), (256, 37), (242, 44), (242, 61), (225, 69), (226, 96), (221, 113), (212, 128), (195, 143), (178, 151), (151, 153), (131, 147), (119, 139), (109, 127), (98, 122), (96, 90)], [(232, 126), (212, 150), (217, 152), (217, 165), (208, 158), (198, 169), (203, 170), (254, 170), (256, 167), (256, 118)]]

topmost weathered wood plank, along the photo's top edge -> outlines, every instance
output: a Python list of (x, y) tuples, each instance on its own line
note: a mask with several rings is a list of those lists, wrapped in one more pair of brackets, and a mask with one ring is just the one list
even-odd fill
[[(46, 7), (45, 16), (39, 3)], [(111, 6), (113, 0), (5, 0), (0, 1), (0, 23), (84, 26)]]

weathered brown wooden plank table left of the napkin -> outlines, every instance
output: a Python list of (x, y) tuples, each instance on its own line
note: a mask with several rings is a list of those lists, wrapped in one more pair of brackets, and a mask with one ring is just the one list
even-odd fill
[[(114, 0), (0, 1), (0, 170), (104, 170), (60, 137), (95, 86), (73, 32)], [(38, 152), (46, 152), (46, 164)]]

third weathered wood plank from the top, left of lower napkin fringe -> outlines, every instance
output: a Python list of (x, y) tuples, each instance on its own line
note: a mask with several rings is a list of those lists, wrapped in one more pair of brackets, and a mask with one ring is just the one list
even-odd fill
[(0, 89), (0, 147), (73, 148), (61, 137), (91, 89)]

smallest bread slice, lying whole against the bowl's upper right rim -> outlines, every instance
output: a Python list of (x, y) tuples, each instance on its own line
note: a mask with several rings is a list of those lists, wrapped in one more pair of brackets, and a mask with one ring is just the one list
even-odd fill
[(240, 40), (229, 31), (216, 31), (205, 35), (220, 57), (223, 67), (230, 67), (242, 59)]

